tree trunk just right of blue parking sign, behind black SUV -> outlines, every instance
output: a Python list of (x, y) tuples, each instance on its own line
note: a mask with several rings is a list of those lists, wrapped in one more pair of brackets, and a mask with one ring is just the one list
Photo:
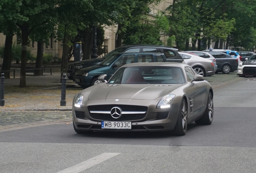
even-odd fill
[(92, 39), (93, 32), (91, 31), (91, 27), (85, 30), (85, 38), (83, 45), (83, 60), (87, 60), (91, 58), (91, 48), (92, 48)]

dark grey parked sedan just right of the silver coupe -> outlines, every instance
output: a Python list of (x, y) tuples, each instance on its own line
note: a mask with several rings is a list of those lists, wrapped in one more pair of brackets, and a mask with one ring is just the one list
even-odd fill
[(233, 58), (232, 56), (223, 52), (210, 51), (208, 53), (213, 55), (213, 57), (216, 59), (218, 68), (215, 73), (223, 72), (224, 74), (227, 74), (237, 70), (239, 58)]

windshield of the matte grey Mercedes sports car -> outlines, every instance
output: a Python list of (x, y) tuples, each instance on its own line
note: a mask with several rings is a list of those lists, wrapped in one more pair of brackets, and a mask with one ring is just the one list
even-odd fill
[(177, 84), (186, 82), (180, 67), (132, 66), (120, 68), (107, 83), (110, 84)]

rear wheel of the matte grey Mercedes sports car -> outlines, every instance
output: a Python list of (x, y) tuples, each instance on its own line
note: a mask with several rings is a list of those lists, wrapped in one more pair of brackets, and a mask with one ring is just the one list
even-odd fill
[(209, 92), (204, 116), (201, 119), (195, 121), (195, 123), (197, 125), (210, 125), (212, 122), (213, 122), (213, 95), (211, 92)]

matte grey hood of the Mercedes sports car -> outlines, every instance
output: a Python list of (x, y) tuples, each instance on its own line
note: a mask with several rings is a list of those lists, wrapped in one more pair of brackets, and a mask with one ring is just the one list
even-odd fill
[(182, 84), (99, 84), (89, 94), (89, 100), (95, 99), (140, 99), (155, 100), (169, 94)]

